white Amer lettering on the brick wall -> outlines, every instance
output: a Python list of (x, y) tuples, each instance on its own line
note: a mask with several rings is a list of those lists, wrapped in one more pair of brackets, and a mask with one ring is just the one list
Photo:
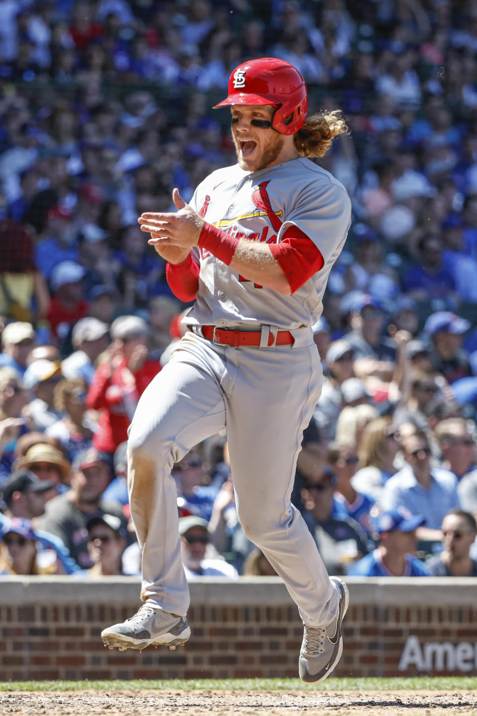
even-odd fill
[(404, 644), (398, 669), (414, 666), (418, 671), (472, 671), (477, 667), (477, 644), (471, 642), (425, 642), (410, 635)]

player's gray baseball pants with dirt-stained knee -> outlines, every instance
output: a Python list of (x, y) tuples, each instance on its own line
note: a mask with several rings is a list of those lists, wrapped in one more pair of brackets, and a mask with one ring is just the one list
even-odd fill
[(128, 440), (131, 516), (142, 551), (141, 596), (185, 616), (177, 491), (171, 469), (198, 442), (227, 429), (237, 512), (309, 627), (338, 611), (313, 536), (290, 502), (303, 430), (322, 369), (310, 329), (293, 346), (225, 347), (188, 332), (137, 405)]

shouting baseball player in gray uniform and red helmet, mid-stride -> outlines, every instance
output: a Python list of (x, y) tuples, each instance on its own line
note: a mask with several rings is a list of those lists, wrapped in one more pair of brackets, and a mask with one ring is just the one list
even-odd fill
[(175, 648), (190, 637), (171, 468), (227, 428), (237, 511), (245, 534), (285, 582), (304, 624), (299, 671), (330, 674), (343, 650), (348, 590), (328, 577), (290, 501), (303, 430), (320, 396), (313, 324), (350, 226), (343, 185), (310, 161), (346, 130), (338, 112), (307, 120), (300, 72), (254, 59), (231, 74), (237, 164), (219, 169), (190, 205), (144, 213), (142, 231), (167, 259), (189, 330), (137, 405), (129, 428), (129, 498), (142, 550), (137, 614), (104, 629), (109, 647)]

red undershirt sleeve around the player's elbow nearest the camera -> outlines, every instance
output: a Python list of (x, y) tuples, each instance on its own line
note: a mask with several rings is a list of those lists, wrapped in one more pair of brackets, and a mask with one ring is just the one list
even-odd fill
[(313, 241), (297, 226), (290, 226), (280, 243), (270, 243), (270, 251), (288, 279), (292, 294), (313, 274), (323, 269), (325, 260)]

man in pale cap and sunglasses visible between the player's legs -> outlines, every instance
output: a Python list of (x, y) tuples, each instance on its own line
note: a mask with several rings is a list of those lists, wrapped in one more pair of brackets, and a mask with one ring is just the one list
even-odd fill
[[(208, 522), (200, 517), (179, 519), (182, 564), (187, 579), (195, 576), (228, 577), (235, 579), (237, 570), (217, 555), (209, 542)], [(213, 550), (214, 556), (206, 556)]]

